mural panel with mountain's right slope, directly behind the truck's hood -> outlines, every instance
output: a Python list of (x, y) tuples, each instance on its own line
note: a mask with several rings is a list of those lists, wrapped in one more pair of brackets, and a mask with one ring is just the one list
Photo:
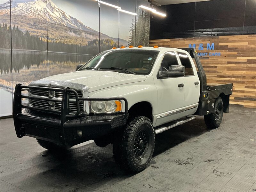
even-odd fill
[(49, 76), (72, 72), (98, 54), (99, 46), (94, 44), (99, 41), (96, 5), (94, 1), (48, 0)]

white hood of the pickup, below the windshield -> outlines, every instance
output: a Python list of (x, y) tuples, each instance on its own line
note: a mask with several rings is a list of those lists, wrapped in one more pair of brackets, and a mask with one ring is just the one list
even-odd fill
[(82, 84), (89, 87), (89, 92), (93, 92), (117, 85), (145, 81), (146, 78), (144, 75), (118, 73), (115, 71), (84, 70), (49, 76), (39, 81), (45, 82), (45, 85), (48, 85), (50, 82), (54, 83), (54, 81)]

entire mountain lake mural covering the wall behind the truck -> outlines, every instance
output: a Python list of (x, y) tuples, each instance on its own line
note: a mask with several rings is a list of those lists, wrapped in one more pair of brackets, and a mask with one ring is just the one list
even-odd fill
[[(131, 12), (144, 2), (104, 1)], [(149, 26), (149, 20), (142, 22)], [(127, 46), (132, 17), (103, 4), (99, 9), (94, 0), (0, 0), (0, 23), (0, 116), (6, 116), (12, 114), (15, 84), (75, 71), (99, 51)]]

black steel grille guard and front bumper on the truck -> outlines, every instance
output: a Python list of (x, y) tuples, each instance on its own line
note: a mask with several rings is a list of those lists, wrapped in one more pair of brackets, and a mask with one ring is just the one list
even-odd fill
[[(29, 89), (63, 92), (62, 98), (46, 98), (36, 95), (23, 95)], [(73, 93), (76, 101), (76, 113), (69, 113), (69, 95)], [(40, 99), (49, 102), (61, 102), (61, 110), (51, 110), (22, 104), (24, 99)], [(81, 115), (79, 101), (123, 100), (125, 112), (114, 114)], [(22, 108), (27, 111), (22, 113)], [(52, 114), (51, 114), (52, 113)], [(128, 102), (123, 97), (113, 98), (81, 98), (69, 87), (41, 87), (17, 84), (13, 98), (13, 120), (17, 137), (30, 136), (54, 142), (65, 147), (92, 140), (111, 133), (114, 128), (123, 126), (128, 119)], [(79, 134), (78, 134), (79, 133)]]

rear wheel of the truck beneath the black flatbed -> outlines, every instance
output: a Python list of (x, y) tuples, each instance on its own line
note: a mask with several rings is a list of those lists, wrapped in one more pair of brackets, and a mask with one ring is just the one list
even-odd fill
[(218, 97), (215, 101), (214, 112), (204, 116), (204, 122), (208, 128), (215, 129), (220, 126), (223, 117), (223, 101)]

